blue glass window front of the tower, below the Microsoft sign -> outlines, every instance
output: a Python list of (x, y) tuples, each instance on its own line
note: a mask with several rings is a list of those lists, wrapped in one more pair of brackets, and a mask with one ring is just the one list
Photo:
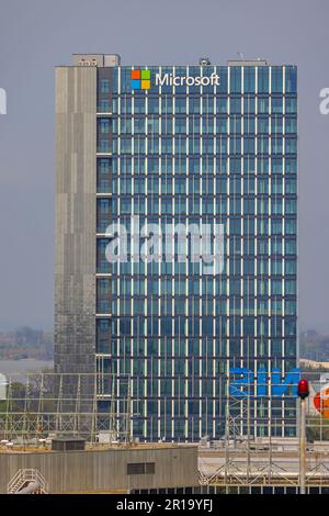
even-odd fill
[[(134, 436), (218, 438), (232, 367), (296, 366), (297, 70), (143, 67), (150, 88), (136, 89), (132, 69), (98, 69), (99, 369), (132, 375)], [(157, 74), (219, 85), (161, 86)], [(140, 227), (223, 224), (224, 270), (174, 255), (110, 263), (106, 227), (129, 234), (132, 215)], [(271, 418), (290, 435), (294, 399), (264, 395), (250, 410), (252, 433), (266, 435)]]

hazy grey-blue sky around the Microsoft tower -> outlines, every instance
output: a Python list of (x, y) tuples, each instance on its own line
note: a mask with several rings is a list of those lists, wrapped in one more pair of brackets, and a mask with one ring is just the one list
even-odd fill
[(264, 57), (298, 65), (299, 325), (329, 329), (328, 0), (0, 0), (0, 328), (53, 327), (54, 67)]

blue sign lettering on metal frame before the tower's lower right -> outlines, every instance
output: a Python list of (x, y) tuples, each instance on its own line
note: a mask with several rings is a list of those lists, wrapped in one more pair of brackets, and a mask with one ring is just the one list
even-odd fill
[(297, 384), (300, 380), (300, 369), (292, 369), (282, 374), (279, 369), (271, 373), (259, 369), (254, 374), (247, 368), (231, 368), (229, 370), (228, 394), (235, 397), (246, 396), (297, 396)]

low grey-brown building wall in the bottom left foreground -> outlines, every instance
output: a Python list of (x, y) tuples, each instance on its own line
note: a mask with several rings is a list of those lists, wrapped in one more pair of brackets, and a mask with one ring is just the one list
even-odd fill
[[(155, 474), (127, 475), (128, 462), (155, 462)], [(198, 484), (197, 448), (0, 453), (0, 493), (21, 468), (37, 469), (50, 493), (183, 487)]]

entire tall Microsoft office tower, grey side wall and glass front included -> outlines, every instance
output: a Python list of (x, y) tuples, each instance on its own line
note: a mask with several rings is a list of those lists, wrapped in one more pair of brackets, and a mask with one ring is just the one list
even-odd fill
[[(296, 366), (296, 75), (103, 55), (56, 69), (55, 368), (131, 377), (135, 436), (218, 438), (232, 368), (257, 384)], [(189, 240), (180, 260), (175, 236), (164, 257), (178, 224), (224, 228), (223, 267), (192, 260)], [(253, 434), (294, 434), (293, 396), (249, 400)], [(231, 411), (243, 434), (241, 400)]]

